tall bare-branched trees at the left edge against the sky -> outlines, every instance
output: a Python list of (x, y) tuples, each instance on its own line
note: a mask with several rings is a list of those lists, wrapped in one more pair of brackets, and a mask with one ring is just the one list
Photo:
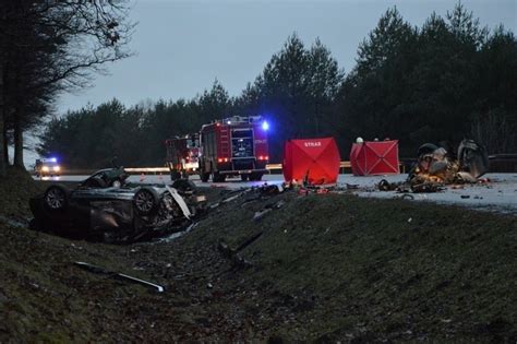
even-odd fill
[(127, 0), (0, 1), (0, 176), (24, 169), (24, 133), (38, 130), (61, 92), (88, 85), (101, 66), (130, 56)]

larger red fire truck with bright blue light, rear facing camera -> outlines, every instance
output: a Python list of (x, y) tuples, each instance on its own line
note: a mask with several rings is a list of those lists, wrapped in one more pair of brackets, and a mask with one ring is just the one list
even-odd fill
[(267, 173), (267, 130), (261, 116), (231, 117), (201, 128), (200, 177), (225, 181), (228, 176), (261, 180)]

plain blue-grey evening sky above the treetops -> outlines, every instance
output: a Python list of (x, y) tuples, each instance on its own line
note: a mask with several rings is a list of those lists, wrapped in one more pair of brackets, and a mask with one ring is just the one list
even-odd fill
[[(306, 46), (316, 37), (348, 72), (359, 43), (387, 8), (420, 26), (435, 11), (445, 16), (456, 1), (360, 0), (136, 0), (139, 22), (130, 48), (135, 56), (108, 66), (94, 86), (65, 94), (59, 114), (113, 97), (131, 106), (146, 99), (192, 98), (217, 78), (230, 95), (253, 82), (272, 55), (296, 32)], [(517, 31), (517, 0), (464, 0), (491, 29), (500, 23)]]

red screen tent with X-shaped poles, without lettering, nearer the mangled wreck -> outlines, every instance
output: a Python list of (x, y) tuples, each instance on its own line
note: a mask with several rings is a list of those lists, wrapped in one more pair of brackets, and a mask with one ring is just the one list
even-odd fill
[(350, 166), (356, 176), (399, 174), (398, 140), (353, 143)]

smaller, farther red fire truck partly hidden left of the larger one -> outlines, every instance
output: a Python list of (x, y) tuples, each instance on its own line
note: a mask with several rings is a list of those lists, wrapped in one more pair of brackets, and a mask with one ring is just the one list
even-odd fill
[(197, 133), (165, 141), (170, 179), (189, 178), (199, 170), (200, 135)]

